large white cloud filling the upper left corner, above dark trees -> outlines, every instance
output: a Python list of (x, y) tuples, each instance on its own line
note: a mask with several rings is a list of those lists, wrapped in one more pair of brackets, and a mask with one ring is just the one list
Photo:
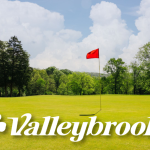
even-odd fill
[(64, 28), (64, 17), (37, 4), (0, 0), (0, 39), (16, 35), (32, 57), (44, 51), (55, 32)]

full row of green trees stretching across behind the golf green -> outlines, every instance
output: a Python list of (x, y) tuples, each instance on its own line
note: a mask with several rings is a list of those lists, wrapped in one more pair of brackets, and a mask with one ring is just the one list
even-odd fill
[[(135, 61), (126, 65), (111, 58), (103, 68), (106, 75), (59, 70), (55, 66), (29, 66), (29, 54), (21, 41), (0, 41), (0, 96), (150, 94), (150, 42), (139, 48)], [(100, 89), (101, 84), (101, 89)]]

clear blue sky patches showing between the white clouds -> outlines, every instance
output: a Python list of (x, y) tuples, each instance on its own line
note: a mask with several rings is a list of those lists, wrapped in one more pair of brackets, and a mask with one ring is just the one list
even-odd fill
[[(92, 5), (100, 3), (102, 0), (20, 0), (21, 2), (36, 3), (50, 11), (59, 12), (64, 15), (65, 28), (82, 32), (82, 38), (90, 34), (89, 27), (92, 20), (89, 18)], [(108, 0), (115, 3), (122, 12), (122, 19), (127, 23), (129, 29), (137, 34), (135, 27), (136, 11), (141, 0)]]

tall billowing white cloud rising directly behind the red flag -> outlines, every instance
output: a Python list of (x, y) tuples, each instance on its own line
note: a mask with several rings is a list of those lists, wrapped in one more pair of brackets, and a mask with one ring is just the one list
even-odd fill
[[(75, 42), (73, 38), (74, 40), (66, 43), (70, 39), (69, 35), (75, 31), (61, 30), (56, 33), (57, 37), (50, 42), (46, 50), (31, 60), (31, 64), (38, 67), (55, 65), (76, 71), (98, 72), (98, 60), (86, 60), (85, 57), (87, 52), (99, 47), (102, 71), (106, 60), (116, 57), (127, 45), (130, 31), (121, 19), (121, 11), (113, 3), (101, 2), (92, 6), (90, 18), (93, 20), (91, 34), (82, 42)], [(80, 37), (77, 32), (73, 35)]]

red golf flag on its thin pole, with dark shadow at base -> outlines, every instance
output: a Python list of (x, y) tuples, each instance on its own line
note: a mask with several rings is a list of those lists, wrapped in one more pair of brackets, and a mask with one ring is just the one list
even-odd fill
[[(88, 54), (91, 55), (91, 54), (95, 53), (97, 50), (98, 50), (98, 54), (92, 55), (92, 56), (88, 56)], [(96, 115), (98, 112), (101, 111), (101, 78), (100, 78), (100, 56), (99, 56), (99, 48), (96, 49), (96, 50), (93, 50), (93, 51), (89, 52), (88, 54), (87, 54), (87, 56), (86, 56), (87, 59), (89, 59), (89, 58), (99, 58), (100, 109), (99, 109), (99, 111), (97, 111), (95, 114), (80, 114), (80, 116), (94, 116), (94, 115)]]

